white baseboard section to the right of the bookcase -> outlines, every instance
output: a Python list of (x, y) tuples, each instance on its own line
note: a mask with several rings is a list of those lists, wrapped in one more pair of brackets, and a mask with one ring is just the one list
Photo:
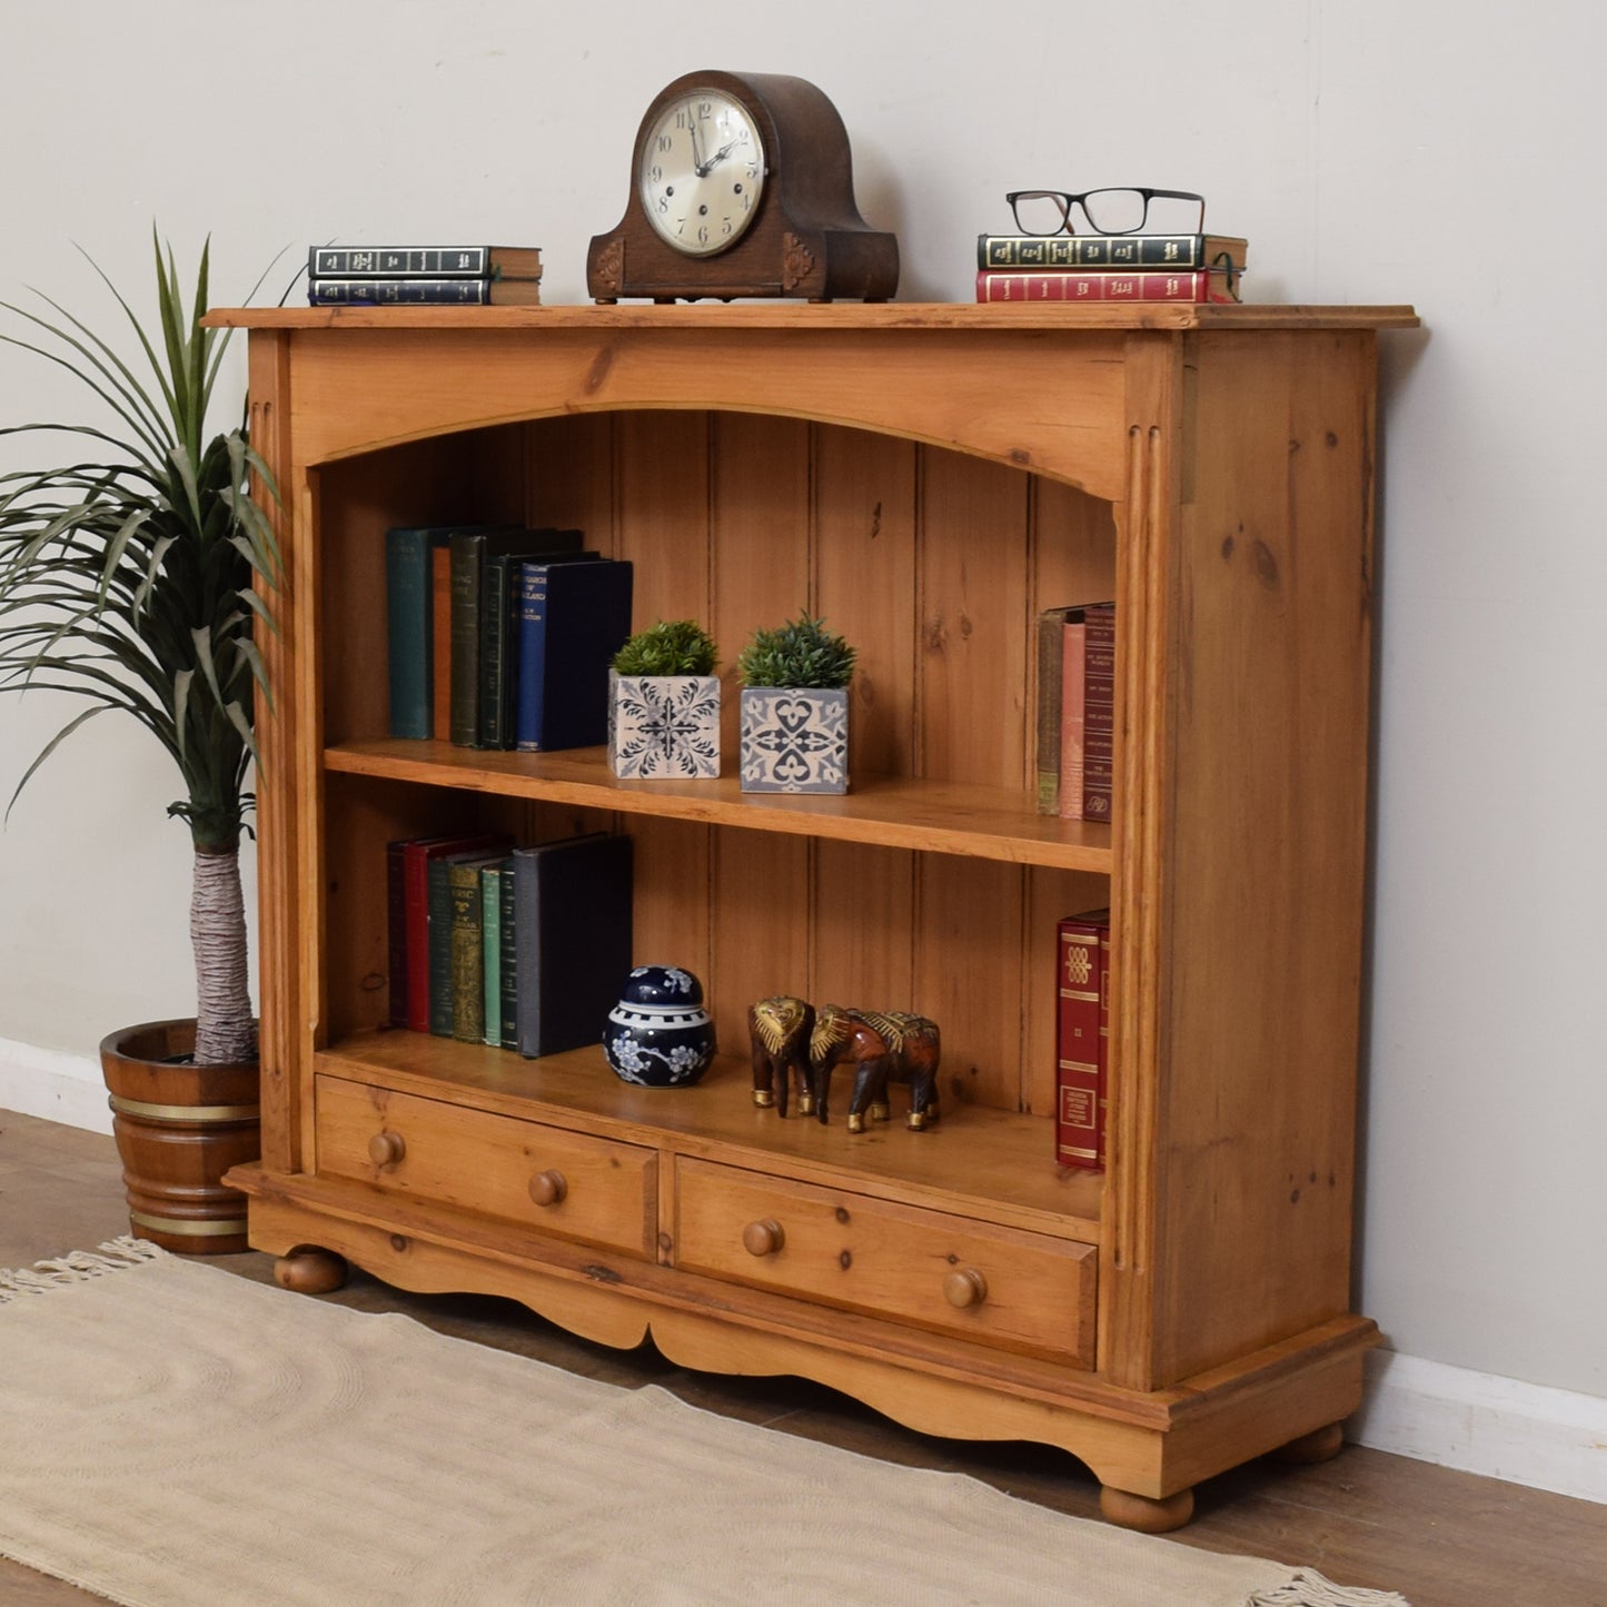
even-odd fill
[(1347, 1438), (1376, 1451), (1607, 1503), (1607, 1400), (1374, 1350)]

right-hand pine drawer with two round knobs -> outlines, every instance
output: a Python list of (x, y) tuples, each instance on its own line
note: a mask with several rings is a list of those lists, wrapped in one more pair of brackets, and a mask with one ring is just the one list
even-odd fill
[(702, 1160), (675, 1176), (677, 1266), (1093, 1366), (1090, 1244)]

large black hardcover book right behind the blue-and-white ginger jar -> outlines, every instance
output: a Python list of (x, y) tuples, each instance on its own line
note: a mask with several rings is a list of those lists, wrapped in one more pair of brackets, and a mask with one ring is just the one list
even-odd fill
[(514, 848), (519, 1053), (601, 1043), (630, 974), (632, 840), (611, 832)]

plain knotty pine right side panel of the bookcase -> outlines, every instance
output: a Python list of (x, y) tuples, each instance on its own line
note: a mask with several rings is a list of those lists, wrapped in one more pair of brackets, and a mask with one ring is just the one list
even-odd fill
[(1157, 1369), (1348, 1306), (1372, 336), (1196, 337), (1180, 532)]

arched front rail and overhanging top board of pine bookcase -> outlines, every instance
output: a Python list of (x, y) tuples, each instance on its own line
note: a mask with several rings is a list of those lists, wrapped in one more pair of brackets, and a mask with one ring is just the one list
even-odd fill
[(239, 309), (206, 321), (252, 331), (254, 400), (276, 392), (307, 421), (302, 468), (524, 419), (686, 408), (900, 435), (1114, 501), (1135, 374), (1146, 391), (1176, 376), (1192, 333), (1416, 320), (1409, 309), (694, 304)]

